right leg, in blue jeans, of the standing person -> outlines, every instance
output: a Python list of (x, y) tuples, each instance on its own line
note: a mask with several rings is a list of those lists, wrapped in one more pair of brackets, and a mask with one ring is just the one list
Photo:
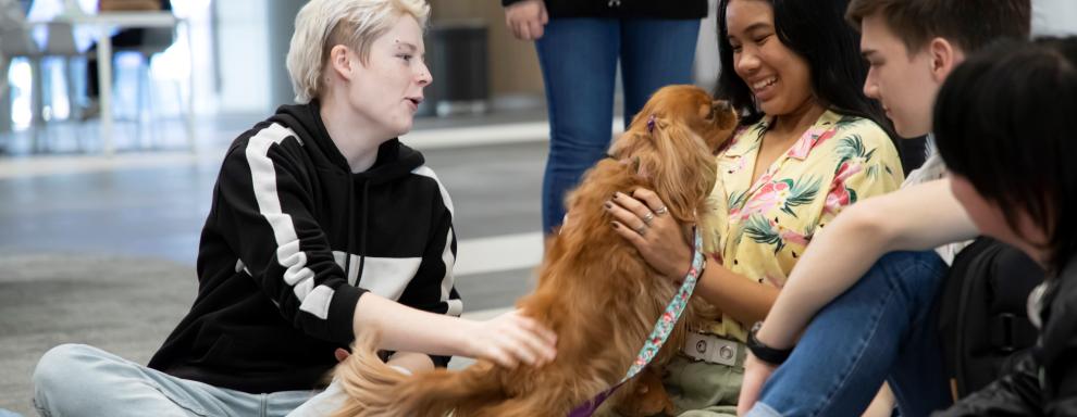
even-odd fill
[(700, 20), (629, 18), (621, 23), (624, 126), (651, 94), (670, 84), (692, 84)]

